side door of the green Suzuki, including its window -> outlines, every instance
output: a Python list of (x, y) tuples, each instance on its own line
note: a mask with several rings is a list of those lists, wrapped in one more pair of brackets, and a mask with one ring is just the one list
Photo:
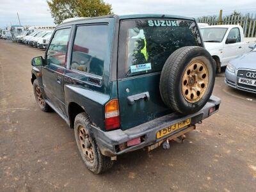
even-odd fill
[(45, 56), (46, 65), (42, 67), (45, 95), (63, 115), (67, 115), (64, 100), (63, 76), (66, 70), (68, 39), (71, 28), (55, 31)]

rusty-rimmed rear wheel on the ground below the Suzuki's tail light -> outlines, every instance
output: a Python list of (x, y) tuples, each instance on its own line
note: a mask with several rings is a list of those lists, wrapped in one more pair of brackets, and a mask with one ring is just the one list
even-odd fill
[(110, 157), (103, 156), (90, 130), (90, 120), (86, 113), (75, 118), (74, 131), (78, 150), (87, 168), (96, 174), (102, 173), (113, 165)]

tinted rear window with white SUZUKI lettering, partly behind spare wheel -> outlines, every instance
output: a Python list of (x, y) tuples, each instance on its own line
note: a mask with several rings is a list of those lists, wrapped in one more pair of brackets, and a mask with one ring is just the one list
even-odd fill
[(175, 50), (201, 46), (196, 23), (191, 20), (138, 19), (121, 22), (120, 63), (124, 76), (160, 72)]

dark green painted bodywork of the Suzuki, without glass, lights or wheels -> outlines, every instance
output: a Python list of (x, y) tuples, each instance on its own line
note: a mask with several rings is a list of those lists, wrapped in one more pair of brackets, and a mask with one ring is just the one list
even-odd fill
[[(39, 84), (43, 90), (44, 97), (47, 98), (63, 116), (70, 119), (70, 106), (74, 103), (81, 106), (93, 125), (99, 127), (103, 131), (104, 128), (104, 106), (110, 99), (119, 99), (121, 129), (129, 129), (136, 125), (143, 124), (159, 116), (172, 113), (170, 109), (164, 107), (159, 94), (159, 77), (160, 73), (150, 74), (147, 76), (137, 76), (129, 79), (117, 80), (118, 72), (118, 31), (121, 19), (138, 19), (138, 18), (173, 18), (188, 19), (188, 17), (180, 17), (175, 15), (110, 15), (105, 17), (97, 17), (92, 19), (81, 19), (74, 22), (61, 24), (56, 28), (71, 27), (71, 35), (69, 43), (72, 44), (76, 25), (81, 24), (108, 24), (108, 55), (104, 61), (103, 76), (93, 76), (76, 70), (70, 70), (70, 52), (72, 46), (68, 46), (67, 52), (67, 68), (55, 66), (49, 68), (47, 66), (36, 67), (42, 72), (42, 78), (39, 77)], [(100, 45), (99, 45), (100, 46)], [(53, 73), (52, 70), (55, 72)], [(32, 70), (35, 79), (36, 70)], [(61, 84), (56, 84), (56, 74), (61, 76)], [(33, 79), (32, 78), (32, 79)], [(46, 79), (49, 78), (49, 79)], [(46, 80), (45, 80), (46, 79)], [(92, 83), (97, 81), (99, 84)], [(32, 80), (33, 81), (33, 80)], [(44, 85), (43, 85), (44, 83)], [(46, 84), (45, 84), (46, 83)], [(45, 92), (45, 85), (50, 87), (51, 93)], [(129, 92), (127, 92), (129, 88)], [(46, 88), (47, 89), (47, 88)], [(138, 100), (132, 106), (127, 103), (127, 97), (136, 93), (149, 92), (150, 99)]]

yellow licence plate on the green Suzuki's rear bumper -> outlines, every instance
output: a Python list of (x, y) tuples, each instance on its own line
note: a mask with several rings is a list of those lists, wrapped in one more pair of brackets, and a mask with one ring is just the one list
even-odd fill
[(187, 125), (191, 124), (191, 118), (188, 118), (182, 122), (179, 122), (177, 124), (170, 125), (169, 127), (166, 127), (164, 129), (161, 129), (157, 131), (156, 138), (162, 138), (163, 136), (166, 136), (167, 134), (170, 134), (173, 131), (176, 131), (178, 129), (181, 129), (183, 127), (186, 127)]

